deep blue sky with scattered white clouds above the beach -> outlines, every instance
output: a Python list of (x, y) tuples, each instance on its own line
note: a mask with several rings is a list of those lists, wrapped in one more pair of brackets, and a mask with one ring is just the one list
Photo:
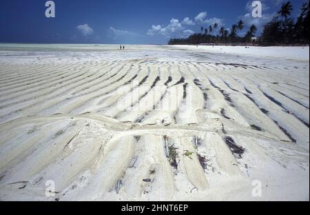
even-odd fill
[[(271, 20), (284, 0), (262, 0), (262, 18), (249, 16), (249, 0), (54, 0), (56, 17), (45, 17), (47, 0), (2, 0), (0, 43), (165, 44), (217, 22), (245, 30)], [(293, 16), (304, 0), (292, 0)]]

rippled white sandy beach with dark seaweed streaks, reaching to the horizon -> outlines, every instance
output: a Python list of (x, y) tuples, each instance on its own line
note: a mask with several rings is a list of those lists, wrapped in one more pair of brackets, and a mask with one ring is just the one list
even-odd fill
[(309, 47), (117, 48), (0, 44), (1, 201), (309, 201)]

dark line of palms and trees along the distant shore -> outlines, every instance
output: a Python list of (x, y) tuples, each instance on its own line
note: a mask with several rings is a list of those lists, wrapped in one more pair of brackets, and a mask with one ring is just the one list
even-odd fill
[(302, 3), (300, 15), (293, 19), (291, 14), (293, 6), (290, 1), (283, 3), (275, 17), (266, 23), (260, 37), (255, 37), (256, 25), (251, 25), (249, 30), (240, 37), (240, 32), (245, 28), (245, 23), (239, 20), (230, 29), (219, 26), (218, 23), (201, 27), (199, 33), (187, 38), (170, 39), (169, 45), (189, 45), (201, 43), (257, 43), (258, 45), (290, 45), (309, 44), (309, 0)]

